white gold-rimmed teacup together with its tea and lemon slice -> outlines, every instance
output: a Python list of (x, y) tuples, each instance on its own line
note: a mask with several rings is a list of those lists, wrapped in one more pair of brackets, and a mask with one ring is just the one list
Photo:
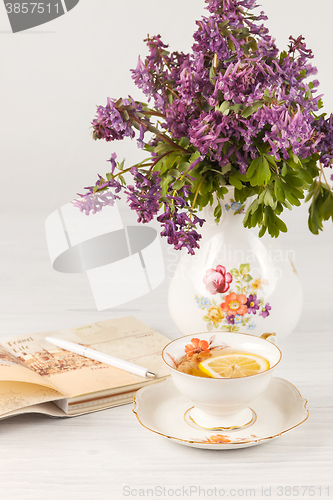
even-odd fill
[(253, 423), (256, 416), (249, 405), (268, 387), (281, 360), (280, 349), (267, 340), (273, 335), (199, 333), (163, 349), (176, 388), (193, 404), (191, 421), (223, 430)]

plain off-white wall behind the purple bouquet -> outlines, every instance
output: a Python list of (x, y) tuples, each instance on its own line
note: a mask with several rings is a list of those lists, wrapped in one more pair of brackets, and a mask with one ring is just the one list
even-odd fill
[[(290, 34), (306, 37), (333, 111), (332, 0), (260, 3), (281, 49)], [(12, 34), (1, 2), (0, 210), (51, 212), (104, 174), (113, 151), (129, 165), (141, 159), (135, 141), (92, 140), (96, 105), (107, 96), (142, 99), (130, 73), (147, 52), (142, 40), (160, 33), (171, 50), (188, 51), (204, 13), (203, 0), (80, 0), (66, 15)]]

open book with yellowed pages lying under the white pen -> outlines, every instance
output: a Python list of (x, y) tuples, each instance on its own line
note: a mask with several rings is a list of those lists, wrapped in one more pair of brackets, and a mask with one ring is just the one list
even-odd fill
[[(54, 336), (126, 359), (156, 373), (146, 379), (55, 347)], [(161, 358), (170, 340), (133, 316), (0, 342), (0, 419), (22, 413), (80, 415), (129, 403), (168, 376)]]

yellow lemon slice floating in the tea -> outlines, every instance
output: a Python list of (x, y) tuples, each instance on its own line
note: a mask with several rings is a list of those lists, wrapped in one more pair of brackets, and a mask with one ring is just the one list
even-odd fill
[(268, 370), (267, 359), (257, 354), (222, 354), (199, 363), (199, 369), (213, 378), (248, 377)]

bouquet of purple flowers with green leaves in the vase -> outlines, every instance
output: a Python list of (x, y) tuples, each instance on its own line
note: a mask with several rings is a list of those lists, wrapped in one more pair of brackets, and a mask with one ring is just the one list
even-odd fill
[(325, 177), (333, 116), (320, 112), (312, 52), (302, 36), (280, 52), (255, 0), (205, 1), (209, 16), (197, 21), (191, 53), (170, 53), (159, 35), (146, 40), (149, 54), (132, 76), (148, 104), (108, 98), (97, 108), (95, 140), (136, 137), (148, 158), (125, 168), (112, 154), (110, 172), (75, 205), (95, 213), (124, 192), (139, 222), (157, 216), (168, 243), (193, 254), (205, 222), (198, 211), (217, 201), (218, 222), (227, 185), (236, 202), (255, 196), (244, 225), (272, 237), (287, 231), (279, 215), (307, 191), (309, 228), (318, 234), (333, 219)]

